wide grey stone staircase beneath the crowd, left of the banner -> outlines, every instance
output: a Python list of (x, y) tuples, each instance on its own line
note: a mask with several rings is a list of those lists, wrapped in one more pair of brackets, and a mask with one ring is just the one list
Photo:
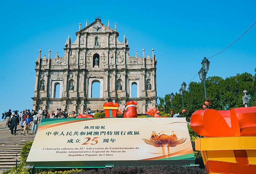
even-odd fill
[[(39, 126), (39, 124), (38, 124)], [(21, 134), (21, 126), (17, 126), (16, 135), (12, 135), (9, 131), (9, 127), (5, 126), (5, 122), (0, 122), (0, 173), (4, 170), (8, 170), (20, 163), (20, 151), (22, 145), (26, 142), (33, 141), (36, 134), (31, 133), (30, 126), (28, 135)]]

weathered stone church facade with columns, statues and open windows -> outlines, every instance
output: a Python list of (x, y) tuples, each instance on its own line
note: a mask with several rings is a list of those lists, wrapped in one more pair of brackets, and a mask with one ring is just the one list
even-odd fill
[[(75, 42), (65, 43), (64, 57), (54, 58), (41, 50), (36, 60), (36, 80), (33, 109), (49, 112), (61, 108), (83, 113), (85, 108), (103, 110), (104, 102), (117, 102), (125, 109), (126, 102), (138, 102), (138, 113), (156, 107), (156, 56), (129, 55), (128, 39), (119, 42), (115, 29), (103, 25), (100, 19), (76, 32)], [(100, 98), (92, 98), (92, 84), (100, 82)], [(132, 85), (137, 85), (137, 97), (132, 97)], [(56, 98), (56, 86), (60, 87)]]

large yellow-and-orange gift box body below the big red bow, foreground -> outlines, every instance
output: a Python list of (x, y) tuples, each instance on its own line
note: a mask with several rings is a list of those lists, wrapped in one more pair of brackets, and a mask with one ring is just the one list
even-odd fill
[(210, 137), (195, 140), (207, 174), (256, 173), (256, 137)]

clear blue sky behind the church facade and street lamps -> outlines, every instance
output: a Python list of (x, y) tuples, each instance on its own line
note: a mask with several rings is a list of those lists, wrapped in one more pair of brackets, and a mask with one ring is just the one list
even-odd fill
[[(113, 5), (115, 4), (115, 5)], [(256, 1), (2, 1), (0, 112), (32, 110), (35, 61), (64, 55), (68, 35), (75, 41), (79, 23), (85, 27), (102, 16), (104, 25), (116, 24), (119, 41), (128, 38), (130, 56), (157, 58), (157, 95), (178, 92), (191, 80), (204, 57), (228, 47), (256, 22)], [(254, 75), (256, 24), (235, 44), (209, 59), (207, 76), (236, 73)], [(197, 76), (193, 81), (199, 81)]]

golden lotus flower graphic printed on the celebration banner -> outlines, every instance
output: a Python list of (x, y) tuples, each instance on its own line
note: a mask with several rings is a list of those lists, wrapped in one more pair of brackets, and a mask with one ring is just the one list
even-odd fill
[(152, 132), (151, 137), (149, 140), (142, 139), (145, 143), (162, 148), (163, 155), (167, 155), (170, 153), (169, 147), (175, 147), (178, 144), (182, 144), (186, 141), (187, 138), (182, 138), (178, 140), (177, 135), (174, 133), (174, 131), (168, 133), (165, 131), (159, 132), (158, 134), (156, 132)]

